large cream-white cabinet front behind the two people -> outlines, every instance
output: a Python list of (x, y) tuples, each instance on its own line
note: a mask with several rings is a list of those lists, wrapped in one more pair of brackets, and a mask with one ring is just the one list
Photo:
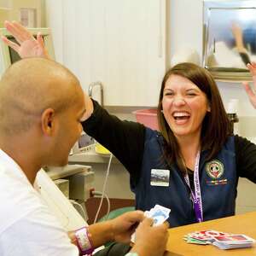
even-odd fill
[(84, 90), (102, 81), (107, 106), (156, 106), (166, 71), (166, 0), (61, 4), (62, 25), (49, 19), (49, 26), (62, 29), (61, 38), (53, 32), (55, 48), (61, 45), (64, 65)]

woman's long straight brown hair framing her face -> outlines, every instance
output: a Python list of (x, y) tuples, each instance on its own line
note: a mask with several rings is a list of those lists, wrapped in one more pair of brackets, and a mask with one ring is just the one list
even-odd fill
[(160, 132), (165, 138), (164, 157), (169, 165), (176, 162), (180, 170), (185, 173), (186, 167), (183, 164), (183, 157), (180, 153), (177, 139), (162, 113), (163, 91), (166, 86), (166, 81), (171, 75), (179, 75), (185, 79), (189, 79), (207, 96), (211, 112), (207, 112), (203, 119), (201, 129), (201, 150), (208, 150), (207, 160), (212, 159), (223, 147), (227, 137), (231, 134), (231, 125), (225, 112), (218, 86), (212, 78), (211, 73), (205, 68), (189, 62), (177, 64), (167, 71), (161, 84), (157, 110)]

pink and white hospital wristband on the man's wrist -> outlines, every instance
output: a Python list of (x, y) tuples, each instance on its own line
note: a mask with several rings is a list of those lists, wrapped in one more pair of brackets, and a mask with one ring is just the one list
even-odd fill
[(90, 234), (87, 227), (83, 227), (75, 231), (77, 246), (79, 247), (79, 252), (82, 255), (90, 255), (94, 251), (94, 247), (89, 236)]

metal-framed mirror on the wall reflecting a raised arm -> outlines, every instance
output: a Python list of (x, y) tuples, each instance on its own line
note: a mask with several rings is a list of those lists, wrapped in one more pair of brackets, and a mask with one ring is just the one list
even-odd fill
[(256, 1), (204, 1), (203, 67), (215, 79), (250, 80), (256, 61)]

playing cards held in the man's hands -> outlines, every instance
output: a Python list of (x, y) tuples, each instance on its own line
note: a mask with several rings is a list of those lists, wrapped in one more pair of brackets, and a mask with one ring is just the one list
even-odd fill
[[(163, 224), (167, 218), (169, 218), (171, 210), (166, 207), (161, 207), (160, 205), (155, 205), (150, 211), (145, 211), (144, 215), (148, 218), (153, 218), (153, 226)], [(131, 241), (135, 242), (135, 232), (131, 235)]]

